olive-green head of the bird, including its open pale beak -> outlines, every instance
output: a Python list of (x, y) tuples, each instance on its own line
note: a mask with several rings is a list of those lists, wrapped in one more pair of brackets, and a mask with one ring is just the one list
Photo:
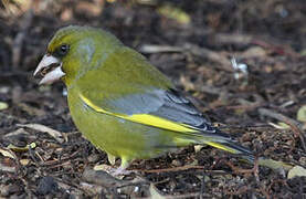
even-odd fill
[(71, 84), (98, 64), (104, 54), (122, 43), (101, 29), (70, 25), (60, 29), (48, 45), (34, 76), (41, 74), (40, 84), (63, 80)]

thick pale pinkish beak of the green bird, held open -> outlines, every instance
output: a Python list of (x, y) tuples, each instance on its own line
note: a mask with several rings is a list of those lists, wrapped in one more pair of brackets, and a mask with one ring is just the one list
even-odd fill
[(43, 75), (39, 83), (40, 85), (52, 84), (65, 75), (62, 71), (62, 62), (50, 54), (43, 56), (33, 75), (36, 76), (39, 73)]

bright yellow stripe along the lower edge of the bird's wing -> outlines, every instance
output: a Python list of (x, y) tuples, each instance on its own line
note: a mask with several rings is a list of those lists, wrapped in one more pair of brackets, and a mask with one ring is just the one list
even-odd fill
[(126, 121), (130, 121), (134, 123), (139, 123), (148, 126), (154, 126), (162, 129), (173, 130), (173, 132), (183, 132), (183, 133), (197, 133), (199, 130), (188, 126), (186, 124), (175, 123), (172, 121), (168, 121), (158, 116), (149, 115), (149, 114), (134, 114), (134, 115), (125, 115), (125, 114), (117, 114), (107, 112), (94, 103), (92, 103), (88, 98), (80, 94), (81, 100), (91, 108), (95, 109), (96, 112), (104, 113), (107, 115), (113, 115)]

